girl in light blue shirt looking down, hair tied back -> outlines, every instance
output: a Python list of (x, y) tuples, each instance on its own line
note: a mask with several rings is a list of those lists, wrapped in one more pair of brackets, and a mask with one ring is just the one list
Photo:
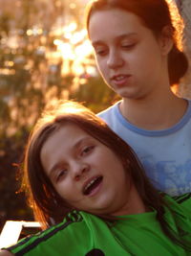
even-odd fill
[(191, 191), (191, 103), (170, 86), (186, 73), (165, 0), (95, 0), (87, 30), (104, 81), (121, 96), (99, 113), (137, 152), (161, 191)]

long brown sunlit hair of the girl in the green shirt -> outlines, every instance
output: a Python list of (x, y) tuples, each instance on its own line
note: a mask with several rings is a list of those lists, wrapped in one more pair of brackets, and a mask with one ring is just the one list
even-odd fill
[[(40, 159), (40, 152), (46, 140), (65, 124), (81, 128), (117, 155), (144, 205), (157, 211), (157, 219), (163, 232), (181, 245), (165, 221), (163, 194), (159, 194), (151, 184), (135, 152), (90, 109), (72, 101), (58, 102), (53, 109), (45, 110), (29, 138), (24, 160), (23, 189), (36, 221), (48, 227), (52, 220), (55, 223), (62, 221), (73, 210), (73, 206), (61, 198), (53, 188)], [(104, 216), (104, 219), (105, 217), (107, 216)]]

